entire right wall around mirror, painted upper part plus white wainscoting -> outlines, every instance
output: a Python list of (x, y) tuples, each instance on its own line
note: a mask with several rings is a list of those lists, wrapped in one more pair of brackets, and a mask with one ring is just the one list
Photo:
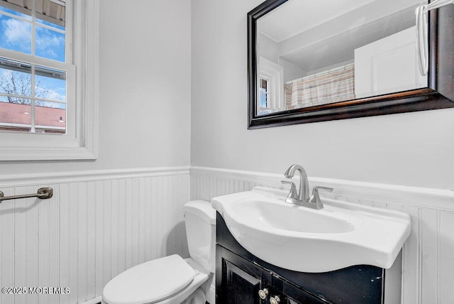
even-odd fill
[(409, 213), (402, 303), (452, 303), (454, 109), (248, 130), (246, 13), (261, 2), (192, 0), (191, 197), (280, 187), (299, 163), (338, 199)]

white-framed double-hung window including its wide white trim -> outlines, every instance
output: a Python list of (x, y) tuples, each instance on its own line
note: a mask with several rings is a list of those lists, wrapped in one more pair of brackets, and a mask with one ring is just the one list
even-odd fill
[(0, 1), (0, 161), (96, 158), (98, 12)]

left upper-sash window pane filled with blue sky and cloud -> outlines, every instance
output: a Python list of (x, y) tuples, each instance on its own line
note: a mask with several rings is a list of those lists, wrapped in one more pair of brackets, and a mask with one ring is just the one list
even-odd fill
[(31, 23), (0, 14), (0, 47), (31, 54)]

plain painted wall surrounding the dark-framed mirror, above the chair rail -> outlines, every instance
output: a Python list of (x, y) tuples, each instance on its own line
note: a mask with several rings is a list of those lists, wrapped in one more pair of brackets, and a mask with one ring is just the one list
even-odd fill
[(454, 188), (454, 109), (248, 130), (246, 13), (261, 2), (192, 1), (192, 165)]

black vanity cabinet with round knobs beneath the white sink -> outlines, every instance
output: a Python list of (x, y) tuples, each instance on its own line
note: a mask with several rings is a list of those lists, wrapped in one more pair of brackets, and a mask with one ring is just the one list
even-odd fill
[(327, 273), (290, 271), (250, 254), (219, 214), (216, 225), (216, 304), (384, 303), (382, 268), (361, 265)]

